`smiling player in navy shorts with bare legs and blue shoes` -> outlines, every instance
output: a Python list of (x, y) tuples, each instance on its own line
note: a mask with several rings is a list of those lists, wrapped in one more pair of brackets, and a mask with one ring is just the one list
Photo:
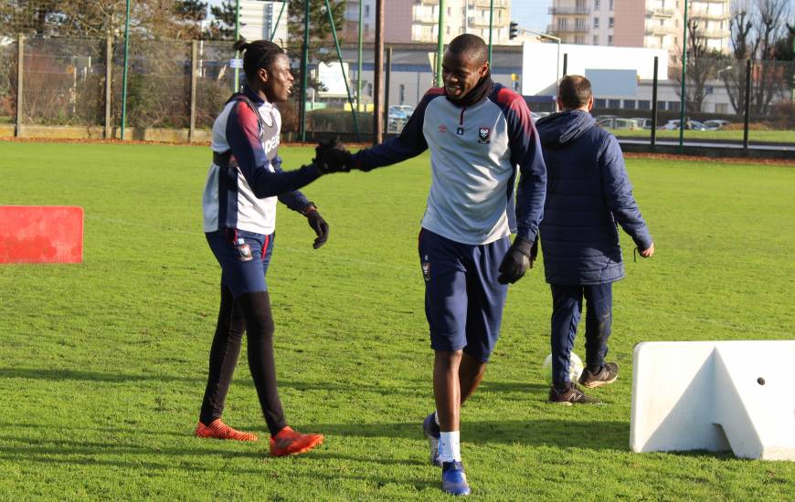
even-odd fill
[(470, 493), (461, 465), (461, 403), (486, 371), (507, 283), (531, 266), (546, 191), (530, 110), (521, 96), (492, 82), (487, 57), (481, 38), (455, 37), (442, 61), (444, 87), (429, 89), (397, 138), (355, 153), (350, 163), (370, 171), (430, 150), (419, 261), (437, 412), (423, 430), (431, 462), (442, 466), (442, 489), (454, 495)]

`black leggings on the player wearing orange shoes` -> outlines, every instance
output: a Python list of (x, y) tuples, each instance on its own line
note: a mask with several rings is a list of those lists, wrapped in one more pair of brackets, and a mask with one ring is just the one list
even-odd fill
[(287, 424), (276, 388), (276, 363), (273, 360), (273, 317), (268, 292), (246, 293), (235, 299), (232, 292), (221, 286), (221, 307), (213, 345), (210, 348), (210, 367), (207, 389), (199, 420), (209, 425), (221, 417), (227, 399), (229, 383), (238, 363), (243, 331), (249, 343), (249, 370), (260, 397), (262, 414), (270, 435)]

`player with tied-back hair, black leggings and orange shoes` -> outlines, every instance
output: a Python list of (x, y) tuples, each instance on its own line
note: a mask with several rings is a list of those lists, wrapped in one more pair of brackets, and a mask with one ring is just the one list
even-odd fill
[(276, 388), (273, 318), (265, 274), (273, 251), (276, 200), (306, 216), (323, 246), (328, 225), (317, 207), (298, 189), (323, 173), (345, 170), (350, 153), (339, 146), (318, 147), (311, 165), (281, 170), (278, 154), (281, 115), (274, 103), (292, 89), (290, 60), (281, 47), (266, 41), (239, 41), (244, 52), (246, 85), (233, 95), (213, 124), (213, 163), (202, 205), (207, 243), (221, 266), (221, 304), (209, 357), (207, 389), (196, 435), (256, 441), (255, 434), (232, 429), (221, 420), (224, 401), (247, 332), (249, 369), (270, 431), (270, 455), (309, 451), (321, 434), (299, 434), (287, 424)]

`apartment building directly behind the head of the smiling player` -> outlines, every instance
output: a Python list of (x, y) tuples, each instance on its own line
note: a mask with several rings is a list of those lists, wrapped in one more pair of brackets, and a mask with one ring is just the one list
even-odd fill
[[(444, 33), (445, 42), (462, 33), (472, 33), (483, 40), (489, 40), (489, 6), (492, 0), (445, 0)], [(348, 0), (345, 6), (346, 40), (357, 37), (359, 26), (359, 5), (362, 6), (362, 25), (364, 38), (375, 38), (376, 2), (375, 0)], [(511, 22), (511, 1), (493, 0), (494, 45), (508, 45), (510, 42), (508, 26)], [(386, 2), (384, 34), (387, 44), (434, 43), (439, 37), (439, 0), (389, 0)]]

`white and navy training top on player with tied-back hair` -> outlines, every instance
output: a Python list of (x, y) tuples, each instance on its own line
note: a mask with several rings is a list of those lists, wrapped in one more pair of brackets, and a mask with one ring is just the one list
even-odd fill
[(313, 165), (283, 172), (279, 157), (281, 114), (271, 103), (244, 88), (260, 113), (232, 96), (213, 123), (212, 150), (232, 152), (237, 168), (210, 166), (202, 197), (204, 231), (237, 228), (270, 235), (276, 229), (276, 200), (294, 211), (309, 204), (297, 189), (321, 173)]

